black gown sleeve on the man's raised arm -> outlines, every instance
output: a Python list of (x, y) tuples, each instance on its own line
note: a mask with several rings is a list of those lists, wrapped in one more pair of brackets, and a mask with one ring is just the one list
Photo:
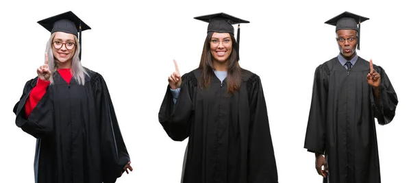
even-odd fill
[(375, 70), (381, 76), (381, 84), (379, 86), (379, 102), (375, 102), (376, 97), (372, 90), (371, 105), (373, 106), (374, 117), (380, 125), (386, 125), (393, 121), (395, 110), (398, 104), (397, 93), (391, 85), (388, 75), (381, 66), (375, 66)]

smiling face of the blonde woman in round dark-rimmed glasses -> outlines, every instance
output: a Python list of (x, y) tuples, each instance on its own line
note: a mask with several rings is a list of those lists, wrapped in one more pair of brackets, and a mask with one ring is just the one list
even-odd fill
[[(75, 53), (75, 37), (73, 34), (56, 32), (53, 38), (53, 56), (59, 64), (69, 64)], [(69, 63), (68, 63), (69, 62)]]

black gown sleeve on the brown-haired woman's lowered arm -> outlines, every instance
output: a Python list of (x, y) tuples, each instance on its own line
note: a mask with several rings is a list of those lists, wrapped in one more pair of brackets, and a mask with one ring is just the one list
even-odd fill
[(250, 125), (248, 147), (248, 182), (277, 183), (277, 164), (269, 126), (266, 101), (258, 75), (247, 81)]

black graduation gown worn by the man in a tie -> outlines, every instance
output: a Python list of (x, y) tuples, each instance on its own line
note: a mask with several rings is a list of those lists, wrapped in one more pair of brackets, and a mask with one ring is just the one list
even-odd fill
[(379, 105), (366, 82), (369, 62), (358, 57), (348, 72), (333, 58), (316, 68), (304, 147), (325, 154), (332, 183), (379, 183), (379, 157), (375, 118), (390, 123), (397, 94), (381, 66)]

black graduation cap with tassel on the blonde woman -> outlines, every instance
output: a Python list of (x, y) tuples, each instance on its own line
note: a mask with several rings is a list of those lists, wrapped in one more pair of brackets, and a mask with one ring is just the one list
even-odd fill
[(73, 12), (64, 12), (62, 14), (38, 21), (37, 23), (42, 25), (42, 27), (45, 27), (49, 32), (51, 32), (51, 34), (53, 34), (53, 32), (65, 32), (77, 36), (80, 43), (79, 59), (82, 59), (82, 31), (91, 28), (88, 27), (88, 25), (79, 19), (79, 17), (77, 17)]

